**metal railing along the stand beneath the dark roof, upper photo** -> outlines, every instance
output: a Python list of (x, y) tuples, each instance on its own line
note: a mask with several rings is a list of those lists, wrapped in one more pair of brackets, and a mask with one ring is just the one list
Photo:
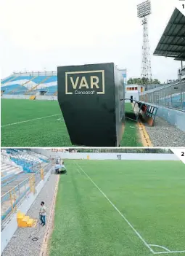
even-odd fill
[(141, 93), (139, 101), (148, 102), (158, 106), (166, 106), (185, 112), (185, 81), (168, 85), (159, 90)]

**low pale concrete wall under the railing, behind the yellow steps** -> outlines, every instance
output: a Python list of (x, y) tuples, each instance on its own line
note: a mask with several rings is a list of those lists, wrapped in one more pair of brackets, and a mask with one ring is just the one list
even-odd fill
[[(47, 179), (51, 175), (52, 169), (46, 174), (44, 177), (44, 180), (41, 180), (41, 182), (38, 183), (36, 186), (36, 193), (29, 193), (27, 198), (22, 202), (22, 204), (19, 207), (20, 212), (24, 212), (25, 214), (30, 209), (30, 206), (33, 204), (33, 202), (36, 200), (36, 197), (41, 192), (41, 189), (46, 184)], [(1, 253), (4, 251), (4, 249), (7, 247), (7, 244), (9, 243), (10, 239), (14, 235), (15, 231), (17, 230), (17, 214), (13, 214), (11, 217), (11, 220), (7, 223), (7, 225), (4, 227), (4, 229), (1, 231)]]

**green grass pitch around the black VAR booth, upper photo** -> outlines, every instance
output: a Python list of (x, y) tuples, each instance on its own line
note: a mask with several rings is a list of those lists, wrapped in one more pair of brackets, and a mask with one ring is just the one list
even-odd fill
[[(72, 146), (57, 101), (1, 99), (1, 147)], [(126, 122), (121, 146), (141, 146), (136, 123)]]

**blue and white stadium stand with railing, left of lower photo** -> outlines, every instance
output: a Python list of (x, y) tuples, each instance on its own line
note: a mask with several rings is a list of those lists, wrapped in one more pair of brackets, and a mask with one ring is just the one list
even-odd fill
[(35, 185), (41, 181), (41, 168), (46, 174), (47, 166), (51, 166), (48, 158), (36, 152), (1, 150), (1, 221), (30, 191), (33, 175)]

